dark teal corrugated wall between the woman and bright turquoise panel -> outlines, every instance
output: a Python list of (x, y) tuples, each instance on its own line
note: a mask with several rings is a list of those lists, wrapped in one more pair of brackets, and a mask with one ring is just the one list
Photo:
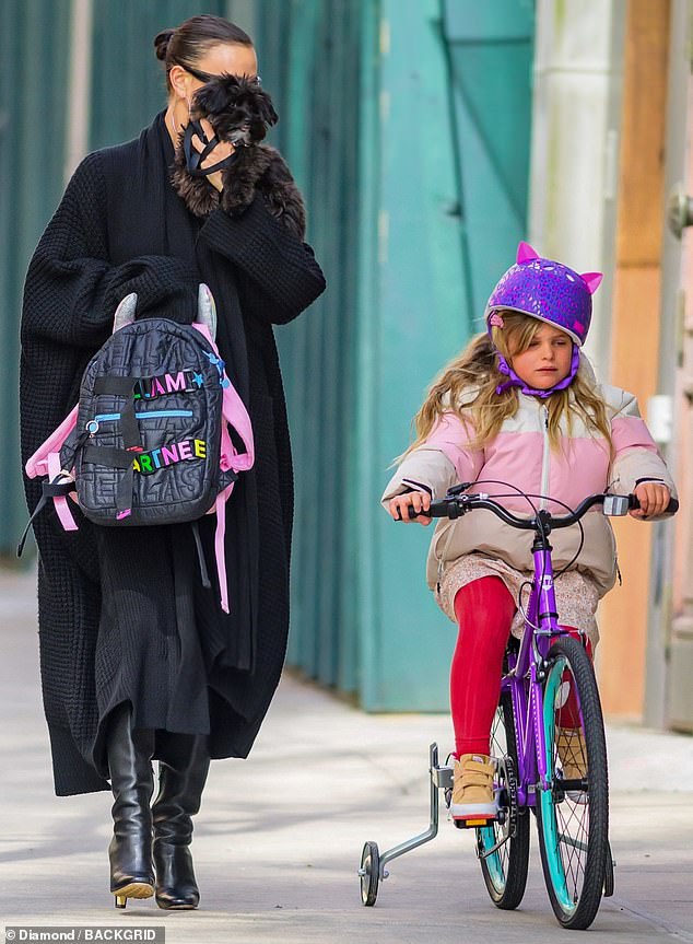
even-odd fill
[[(328, 292), (277, 330), (295, 463), (289, 660), (325, 685), (353, 691), (356, 623), (349, 559), (356, 448), (355, 312), (359, 243), (361, 4), (256, 3), (263, 83), (281, 119), (273, 139), (308, 207), (308, 238)], [(289, 38), (287, 38), (289, 37)], [(282, 54), (285, 50), (285, 55)]]

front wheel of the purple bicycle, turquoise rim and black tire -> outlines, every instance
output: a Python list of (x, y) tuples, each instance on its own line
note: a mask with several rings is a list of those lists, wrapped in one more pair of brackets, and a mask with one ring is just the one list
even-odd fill
[(609, 850), (607, 746), (597, 680), (576, 639), (549, 652), (543, 685), (548, 790), (537, 791), (537, 827), (547, 890), (564, 928), (595, 920)]

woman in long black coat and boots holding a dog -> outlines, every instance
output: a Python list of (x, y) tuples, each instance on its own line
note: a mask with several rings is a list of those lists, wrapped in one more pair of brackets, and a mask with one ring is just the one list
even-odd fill
[[(155, 894), (162, 908), (195, 908), (190, 817), (210, 758), (248, 755), (286, 646), (293, 478), (273, 325), (301, 314), (325, 280), (277, 152), (248, 148), (242, 162), (220, 141), (201, 166), (227, 166), (187, 175), (181, 143), (195, 93), (226, 73), (252, 86), (249, 37), (221, 18), (196, 16), (155, 46), (166, 110), (139, 139), (82, 162), (28, 269), (22, 455), (25, 463), (77, 403), (121, 299), (137, 293), (138, 317), (188, 324), (198, 284), (210, 287), (220, 352), (256, 446), (255, 468), (227, 509), (231, 614), (219, 605), (219, 586), (202, 587), (189, 525), (103, 528), (77, 512), (79, 531), (66, 533), (52, 510), (35, 522), (56, 793), (113, 790), (110, 888), (119, 907)], [(211, 138), (211, 126), (202, 127)], [(192, 148), (203, 150), (199, 137)], [(25, 486), (33, 511), (40, 486)], [(213, 560), (213, 516), (200, 532)], [(152, 758), (160, 784), (150, 805)]]

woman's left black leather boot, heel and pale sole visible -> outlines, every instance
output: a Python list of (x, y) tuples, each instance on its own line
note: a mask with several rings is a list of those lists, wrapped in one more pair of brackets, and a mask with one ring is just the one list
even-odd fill
[(110, 890), (116, 896), (116, 908), (125, 908), (128, 898), (151, 898), (154, 894), (150, 808), (154, 731), (132, 727), (128, 702), (118, 706), (111, 715), (106, 753), (115, 797), (114, 836), (108, 847)]

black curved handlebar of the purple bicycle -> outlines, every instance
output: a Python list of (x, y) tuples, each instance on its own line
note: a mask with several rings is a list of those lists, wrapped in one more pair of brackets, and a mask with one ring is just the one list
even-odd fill
[[(604, 514), (614, 516), (624, 515), (632, 509), (641, 506), (639, 501), (634, 494), (620, 496), (600, 492), (599, 494), (588, 496), (578, 504), (575, 511), (572, 511), (569, 514), (556, 517), (549, 512), (544, 512), (544, 516), (551, 523), (552, 529), (556, 527), (569, 527), (579, 521), (583, 515), (596, 504), (606, 505), (608, 510), (604, 510)], [(431, 502), (431, 508), (427, 511), (418, 512), (411, 506), (408, 511), (411, 520), (419, 516), (457, 518), (477, 508), (485, 508), (488, 511), (492, 511), (496, 517), (500, 517), (501, 521), (505, 522), (505, 524), (509, 524), (510, 527), (520, 528), (522, 531), (536, 531), (537, 528), (536, 515), (532, 515), (532, 517), (517, 517), (502, 504), (494, 501), (490, 496), (483, 493), (447, 494), (444, 499)], [(673, 514), (678, 509), (679, 502), (677, 499), (672, 498), (667, 505), (666, 511)]]

